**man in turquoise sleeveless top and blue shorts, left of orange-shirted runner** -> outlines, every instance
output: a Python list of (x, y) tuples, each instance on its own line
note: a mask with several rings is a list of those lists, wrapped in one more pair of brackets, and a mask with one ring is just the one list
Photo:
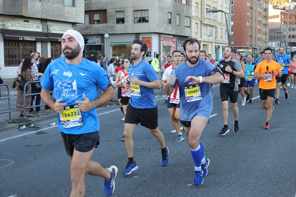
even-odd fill
[[(256, 68), (255, 64), (252, 63), (252, 55), (247, 56), (246, 72), (244, 73), (244, 93), (247, 95), (246, 101), (249, 101), (249, 104), (252, 104), (252, 98), (254, 96), (254, 86), (255, 79), (253, 77), (254, 70)], [(248, 92), (248, 87), (250, 86), (250, 93)]]

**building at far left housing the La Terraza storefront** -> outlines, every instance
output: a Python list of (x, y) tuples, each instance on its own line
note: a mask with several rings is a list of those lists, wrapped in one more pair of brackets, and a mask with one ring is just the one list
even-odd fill
[(33, 52), (58, 58), (63, 33), (83, 21), (83, 0), (0, 0), (1, 77), (15, 77)]

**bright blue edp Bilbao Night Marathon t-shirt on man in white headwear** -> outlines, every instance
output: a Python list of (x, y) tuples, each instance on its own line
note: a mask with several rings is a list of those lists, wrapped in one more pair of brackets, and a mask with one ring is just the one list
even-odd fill
[[(84, 101), (83, 93), (90, 101), (96, 99), (98, 86), (106, 89), (109, 84), (106, 71), (93, 61), (82, 58), (80, 64), (71, 65), (65, 61), (65, 57), (58, 58), (50, 63), (45, 75), (40, 78), (41, 86), (44, 89), (54, 87), (54, 100), (62, 98), (61, 103), (75, 105), (75, 101)], [(59, 131), (67, 134), (83, 134), (99, 131), (99, 119), (96, 115), (96, 108), (88, 112), (82, 112), (82, 126), (64, 128), (57, 115)]]

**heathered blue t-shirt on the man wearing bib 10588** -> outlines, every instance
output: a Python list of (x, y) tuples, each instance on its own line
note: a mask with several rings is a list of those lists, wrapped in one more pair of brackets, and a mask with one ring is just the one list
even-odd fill
[[(210, 62), (199, 60), (197, 65), (190, 67), (187, 61), (183, 64), (176, 66), (176, 82), (178, 83), (180, 91), (180, 115), (182, 121), (191, 121), (194, 116), (202, 115), (206, 118), (210, 118), (213, 109), (212, 93), (210, 84), (200, 83), (200, 92), (202, 99), (193, 102), (187, 102), (185, 97), (185, 87), (193, 86), (189, 85), (191, 80), (184, 82), (187, 76), (211, 76), (211, 72), (216, 68)], [(176, 84), (176, 83), (175, 83)]]

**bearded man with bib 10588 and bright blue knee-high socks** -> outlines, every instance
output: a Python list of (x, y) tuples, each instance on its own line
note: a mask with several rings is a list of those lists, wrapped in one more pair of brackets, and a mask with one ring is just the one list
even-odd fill
[(187, 61), (176, 67), (176, 80), (173, 75), (169, 75), (164, 89), (166, 95), (170, 95), (178, 84), (181, 123), (188, 136), (194, 161), (194, 185), (200, 185), (210, 163), (205, 158), (200, 141), (213, 108), (210, 84), (223, 82), (223, 74), (212, 63), (199, 59), (200, 43), (197, 39), (186, 39), (183, 48)]

